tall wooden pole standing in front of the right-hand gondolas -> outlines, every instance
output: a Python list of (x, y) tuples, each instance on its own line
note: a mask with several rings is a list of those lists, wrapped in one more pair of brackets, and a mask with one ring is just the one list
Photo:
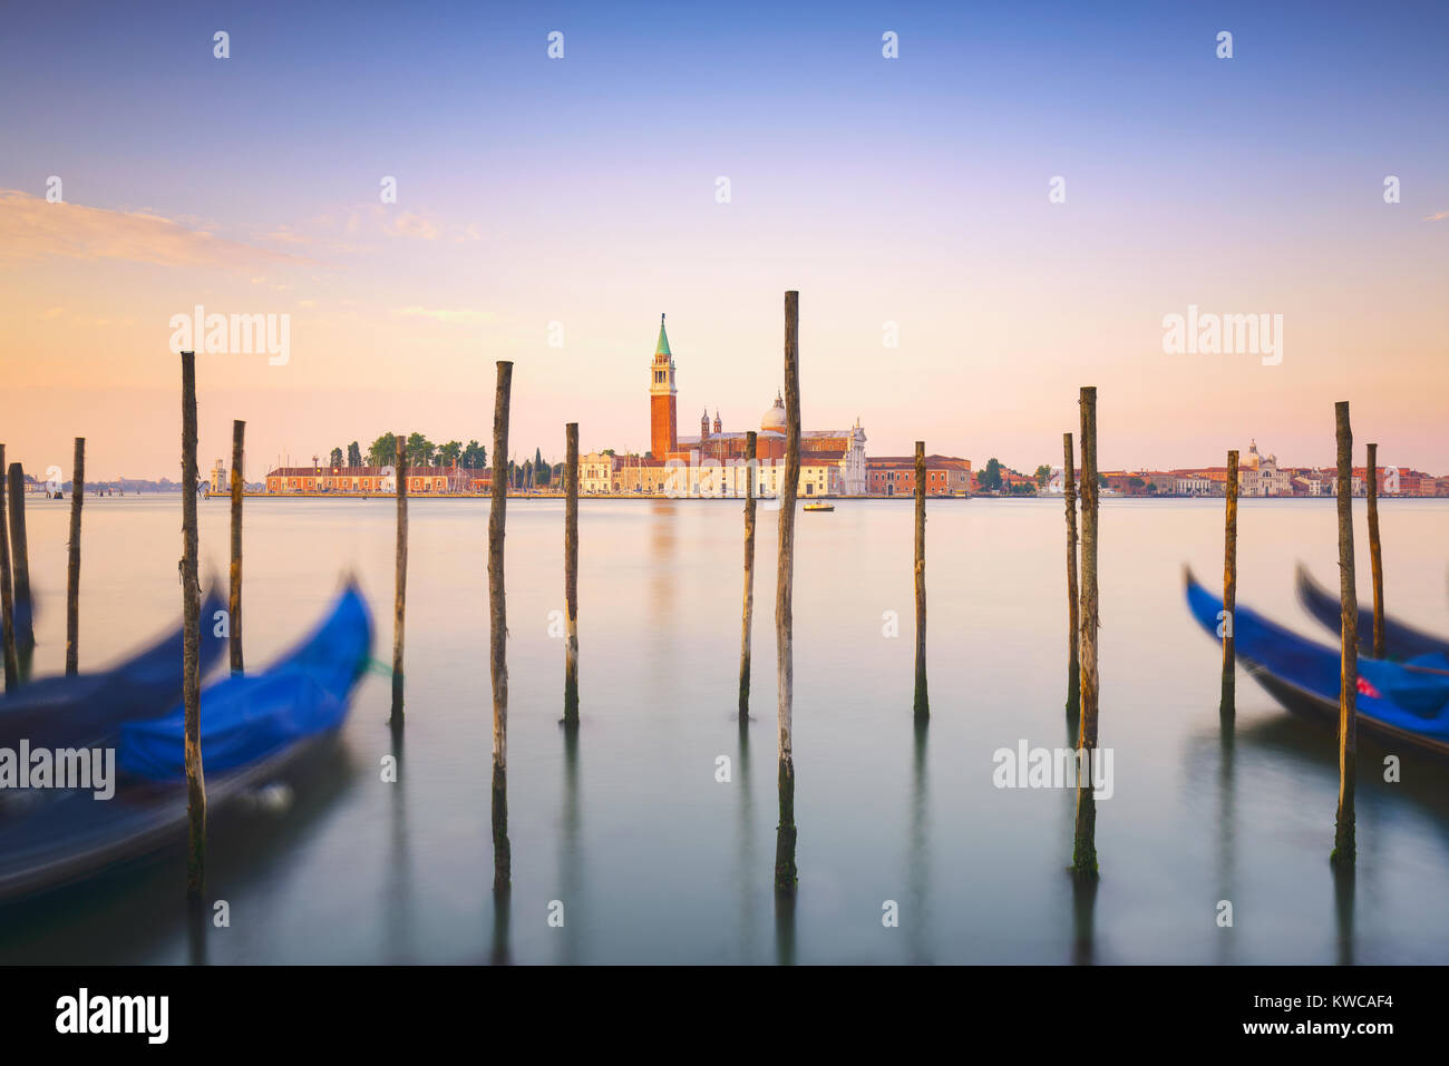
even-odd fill
[(1332, 860), (1352, 866), (1358, 859), (1355, 840), (1353, 785), (1358, 776), (1358, 588), (1353, 584), (1353, 430), (1349, 403), (1333, 406), (1339, 440), (1339, 814), (1333, 831)]

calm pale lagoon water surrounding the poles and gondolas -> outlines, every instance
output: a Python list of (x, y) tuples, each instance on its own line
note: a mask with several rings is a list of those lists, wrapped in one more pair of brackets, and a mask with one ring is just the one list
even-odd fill
[[(28, 507), (41, 600), (36, 672), (64, 663), (68, 503)], [(123, 656), (180, 608), (177, 497), (87, 500), (81, 668)], [(188, 933), (175, 852), (0, 910), (4, 962), (1449, 962), (1449, 779), (1404, 756), (1387, 785), (1362, 742), (1359, 875), (1327, 855), (1332, 730), (1290, 718), (1239, 675), (1236, 743), (1217, 717), (1219, 653), (1182, 601), (1181, 566), (1220, 579), (1222, 501), (1104, 501), (1095, 898), (1074, 897), (1072, 794), (997, 789), (991, 753), (1065, 746), (1062, 507), (930, 504), (929, 731), (911, 723), (911, 504), (801, 514), (796, 566), (800, 891), (777, 911), (774, 553), (761, 511), (755, 721), (735, 721), (736, 501), (581, 505), (582, 730), (558, 726), (562, 504), (510, 501), (507, 540), (513, 895), (491, 894), (487, 501), (413, 501), (401, 781), (388, 681), (368, 675), (332, 763), (285, 814), (217, 827), (210, 895), (230, 928)], [(225, 572), (223, 501), (201, 547)], [(1359, 589), (1368, 597), (1362, 503)], [(390, 501), (246, 503), (246, 652), (258, 666), (309, 629), (355, 569), (388, 658)], [(1449, 501), (1388, 501), (1391, 611), (1449, 631)], [(1336, 584), (1333, 501), (1245, 501), (1239, 603), (1314, 633), (1293, 563)], [(885, 613), (900, 637), (882, 636)], [(716, 782), (716, 759), (732, 781)], [(548, 926), (562, 901), (564, 928)], [(900, 905), (885, 928), (881, 907)], [(1219, 928), (1217, 901), (1235, 907)]]

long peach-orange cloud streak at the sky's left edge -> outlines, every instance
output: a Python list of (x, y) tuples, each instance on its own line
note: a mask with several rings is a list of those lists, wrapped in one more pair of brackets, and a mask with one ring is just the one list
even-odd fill
[(251, 266), (310, 262), (187, 229), (149, 211), (113, 211), (52, 204), (14, 188), (0, 188), (0, 262), (59, 255), (71, 259), (125, 259), (161, 266)]

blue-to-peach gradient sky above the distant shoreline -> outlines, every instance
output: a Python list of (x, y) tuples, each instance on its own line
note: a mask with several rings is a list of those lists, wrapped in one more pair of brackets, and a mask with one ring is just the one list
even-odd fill
[[(75, 436), (90, 478), (180, 477), (172, 316), (197, 306), (285, 316), (285, 362), (197, 356), (203, 469), (245, 419), (259, 478), (384, 432), (491, 445), (497, 359), (514, 458), (562, 459), (568, 421), (645, 450), (662, 311), (680, 433), (704, 407), (753, 429), (785, 290), (806, 429), (859, 419), (871, 455), (1032, 471), (1095, 385), (1104, 469), (1249, 439), (1329, 465), (1349, 400), (1382, 463), (1449, 472), (1449, 4), (54, 3), (3, 26), (0, 442), (38, 477)], [(1281, 348), (1164, 351), (1190, 307), (1282, 316)]]

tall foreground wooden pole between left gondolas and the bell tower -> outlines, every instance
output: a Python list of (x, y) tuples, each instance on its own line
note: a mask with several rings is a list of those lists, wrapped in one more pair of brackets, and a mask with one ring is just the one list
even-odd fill
[(509, 507), (509, 391), (513, 364), (498, 361), (493, 397), (493, 503), (488, 510), (488, 672), (493, 678), (493, 888), (507, 891), (513, 878), (509, 849), (509, 616), (503, 587), (503, 534)]

